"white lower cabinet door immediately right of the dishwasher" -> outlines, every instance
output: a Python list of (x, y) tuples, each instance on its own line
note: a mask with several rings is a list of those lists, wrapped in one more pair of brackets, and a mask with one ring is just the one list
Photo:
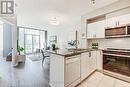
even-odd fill
[(81, 80), (96, 70), (96, 51), (81, 54)]

